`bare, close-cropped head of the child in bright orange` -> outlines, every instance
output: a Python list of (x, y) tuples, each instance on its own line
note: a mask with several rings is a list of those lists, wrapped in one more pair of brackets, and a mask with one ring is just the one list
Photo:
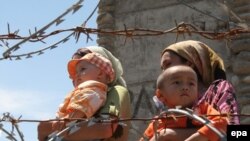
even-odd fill
[(191, 107), (198, 98), (195, 71), (189, 66), (173, 66), (157, 79), (157, 98), (169, 108)]

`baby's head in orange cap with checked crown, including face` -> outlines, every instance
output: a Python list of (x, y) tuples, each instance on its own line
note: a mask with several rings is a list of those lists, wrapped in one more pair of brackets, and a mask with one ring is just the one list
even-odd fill
[(98, 53), (88, 53), (79, 59), (70, 60), (68, 72), (75, 87), (88, 80), (109, 84), (115, 75), (111, 62)]

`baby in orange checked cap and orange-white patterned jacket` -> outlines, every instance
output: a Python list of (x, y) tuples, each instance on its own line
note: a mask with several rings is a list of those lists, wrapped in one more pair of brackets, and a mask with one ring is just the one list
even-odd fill
[(75, 89), (65, 98), (58, 118), (90, 118), (104, 105), (110, 82), (114, 80), (111, 62), (98, 53), (88, 53), (68, 63)]

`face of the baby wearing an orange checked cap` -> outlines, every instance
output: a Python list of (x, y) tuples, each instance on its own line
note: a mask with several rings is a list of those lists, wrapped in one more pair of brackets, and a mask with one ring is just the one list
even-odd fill
[(87, 61), (80, 61), (76, 65), (76, 77), (73, 80), (74, 86), (76, 87), (87, 80), (98, 80), (100, 72), (97, 66)]

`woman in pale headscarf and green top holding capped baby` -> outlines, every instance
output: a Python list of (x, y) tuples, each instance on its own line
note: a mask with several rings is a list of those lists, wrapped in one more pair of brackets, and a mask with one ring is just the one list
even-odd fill
[[(106, 104), (99, 110), (96, 117), (108, 115), (110, 118), (130, 118), (130, 98), (126, 83), (122, 78), (123, 69), (120, 61), (103, 47), (90, 46), (78, 49), (72, 59), (79, 59), (90, 52), (96, 52), (109, 59), (115, 71), (115, 80), (109, 85)], [(88, 126), (82, 125), (80, 130), (71, 135), (66, 135), (65, 140), (128, 140), (129, 122), (127, 126), (117, 123), (96, 123)], [(64, 126), (64, 122), (58, 122), (58, 126)], [(52, 122), (41, 122), (38, 125), (38, 138), (40, 141), (46, 140), (47, 136), (54, 132)]]

